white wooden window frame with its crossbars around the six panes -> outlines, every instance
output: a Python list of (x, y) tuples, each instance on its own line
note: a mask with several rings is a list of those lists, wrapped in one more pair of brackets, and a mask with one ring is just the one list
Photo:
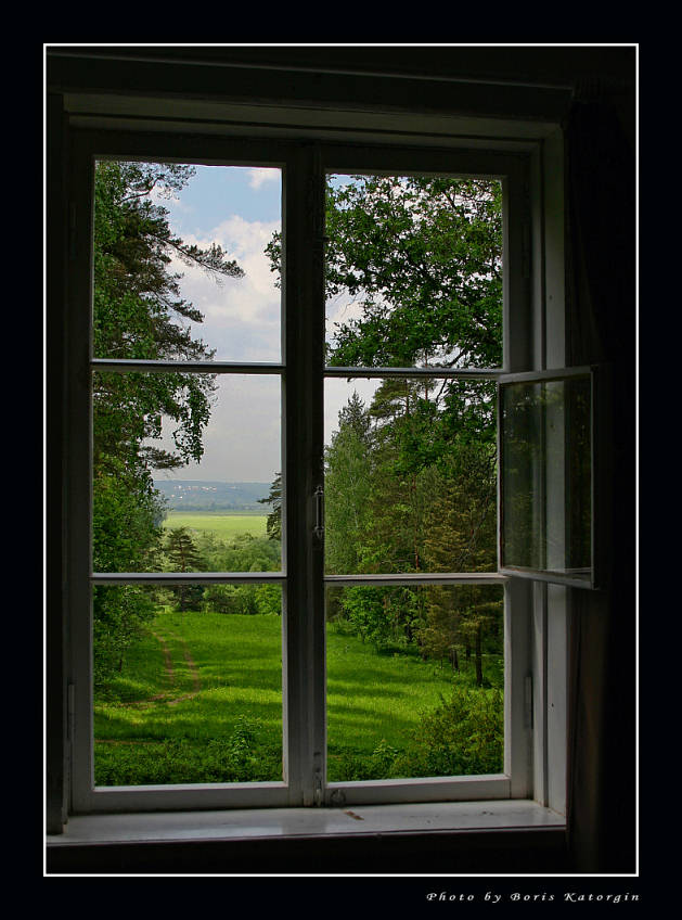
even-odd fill
[[(536, 232), (542, 229), (542, 221), (533, 219), (532, 214), (532, 208), (541, 201), (541, 195), (532, 194), (531, 190), (536, 187), (543, 188), (542, 143), (537, 140), (524, 142), (519, 145), (519, 152), (510, 152), (507, 143), (502, 143), (499, 151), (493, 149), (493, 142), (486, 149), (469, 149), (462, 146), (464, 143), (453, 143), (451, 150), (419, 146), (408, 150), (402, 143), (394, 148), (388, 145), (368, 150), (364, 145), (353, 148), (332, 144), (324, 140), (319, 143), (269, 138), (249, 141), (241, 138), (181, 137), (160, 131), (127, 135), (116, 130), (74, 130), (69, 173), (69, 430), (66, 438), (66, 591), (69, 611), (67, 682), (72, 814), (527, 797), (536, 797), (541, 804), (550, 802), (548, 738), (551, 731), (548, 727), (546, 707), (551, 695), (548, 683), (548, 648), (552, 642), (548, 631), (546, 586), (531, 585), (499, 574), (452, 573), (446, 576), (420, 576), (420, 580), (438, 584), (447, 582), (453, 585), (491, 580), (504, 584), (503, 774), (491, 777), (325, 783), (324, 585), (343, 580), (343, 577), (324, 576), (323, 545), (319, 540), (316, 541), (313, 536), (319, 523), (316, 518), (314, 496), (318, 486), (322, 485), (323, 474), (323, 381), (325, 375), (346, 374), (343, 369), (339, 371), (337, 368), (323, 368), (323, 176), (331, 171), (381, 171), (383, 167), (385, 171), (394, 174), (428, 171), (501, 177), (505, 190), (504, 361), (503, 367), (492, 371), (489, 376), (497, 379), (503, 372), (537, 369), (539, 362), (532, 343), (533, 338), (542, 338), (546, 332), (546, 279), (544, 258), (532, 267), (531, 247), (543, 246), (543, 243), (540, 233)], [(221, 373), (276, 373), (282, 378), (285, 495), (283, 571), (281, 574), (254, 575), (197, 573), (191, 577), (193, 582), (234, 584), (256, 580), (274, 582), (283, 586), (283, 782), (107, 789), (95, 789), (92, 784), (91, 586), (118, 584), (121, 580), (173, 580), (173, 576), (169, 575), (94, 575), (90, 572), (91, 497), (87, 486), (90, 482), (90, 373), (93, 367), (113, 367), (113, 362), (94, 361), (89, 322), (86, 319), (91, 316), (93, 165), (96, 159), (105, 157), (177, 159), (216, 165), (241, 163), (282, 169), (285, 238), (282, 362), (268, 367), (209, 362), (208, 366), (194, 365), (193, 369)], [(531, 226), (533, 233), (530, 232)], [(540, 276), (542, 278), (539, 280)], [(554, 278), (556, 277), (555, 272)], [(539, 312), (533, 307), (536, 301), (541, 307)], [(538, 320), (538, 316), (542, 319)], [(540, 332), (538, 322), (542, 327)], [(295, 360), (301, 355), (307, 359)], [(144, 363), (134, 362), (134, 366), (141, 368)], [(168, 370), (168, 367), (163, 369)], [(396, 372), (396, 369), (391, 372)], [(353, 369), (353, 373), (366, 375), (359, 374), (358, 369)], [(372, 373), (382, 376), (385, 371), (372, 369)], [(485, 374), (479, 371), (473, 373), (479, 376)], [(452, 376), (471, 374), (472, 372), (452, 372)], [(291, 445), (295, 447), (292, 448)], [(391, 584), (404, 583), (406, 578), (415, 580), (408, 576), (382, 576), (383, 582)], [(361, 580), (376, 579), (368, 577)], [(353, 578), (353, 584), (358, 584), (357, 578)], [(307, 610), (307, 616), (288, 613), (300, 610)], [(566, 648), (562, 642), (557, 648), (561, 659), (565, 655)], [(303, 666), (304, 663), (306, 666)], [(544, 713), (540, 724), (533, 718), (533, 712)], [(559, 739), (562, 731), (565, 732), (565, 721), (562, 729), (559, 720)], [(561, 767), (558, 772), (561, 775)], [(561, 792), (557, 796), (557, 801), (559, 800)]]

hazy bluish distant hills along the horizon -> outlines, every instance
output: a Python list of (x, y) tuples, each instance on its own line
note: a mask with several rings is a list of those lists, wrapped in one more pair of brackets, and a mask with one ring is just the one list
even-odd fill
[(270, 494), (270, 483), (218, 483), (200, 480), (155, 480), (165, 496), (169, 511), (260, 511), (268, 514), (270, 504), (259, 498)]

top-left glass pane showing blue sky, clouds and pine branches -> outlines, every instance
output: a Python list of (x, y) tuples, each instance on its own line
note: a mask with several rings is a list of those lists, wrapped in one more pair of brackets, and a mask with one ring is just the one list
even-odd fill
[(279, 361), (281, 171), (95, 165), (94, 356)]

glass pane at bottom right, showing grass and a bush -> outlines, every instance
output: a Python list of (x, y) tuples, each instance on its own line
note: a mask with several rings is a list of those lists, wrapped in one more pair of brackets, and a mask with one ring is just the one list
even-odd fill
[(329, 587), (327, 779), (503, 769), (503, 588)]

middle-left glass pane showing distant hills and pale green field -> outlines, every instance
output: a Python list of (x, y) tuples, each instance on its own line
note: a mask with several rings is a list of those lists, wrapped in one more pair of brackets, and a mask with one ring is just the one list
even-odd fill
[(281, 568), (279, 375), (93, 373), (93, 570)]

